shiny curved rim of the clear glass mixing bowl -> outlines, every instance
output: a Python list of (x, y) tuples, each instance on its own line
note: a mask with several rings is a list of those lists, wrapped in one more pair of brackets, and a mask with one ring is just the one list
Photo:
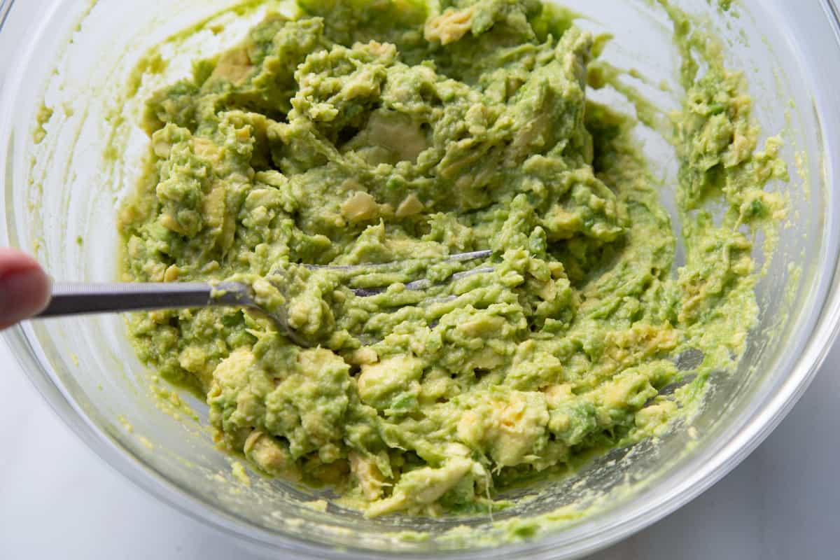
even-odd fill
[[(57, 9), (60, 1), (58, 0), (53, 5), (53, 9)], [(16, 0), (0, 0), (0, 33), (3, 31), (15, 3)], [(828, 23), (834, 32), (837, 49), (840, 51), (840, 7), (838, 7), (837, 0), (821, 0), (821, 3), (829, 20)], [(46, 17), (47, 15), (45, 14), (45, 20), (49, 19)], [(39, 34), (36, 33), (30, 35), (30, 38), (37, 39), (38, 36)], [(27, 48), (17, 55), (13, 55), (13, 59), (17, 59), (18, 63), (28, 60), (29, 51), (34, 48), (36, 43), (37, 41), (33, 40)], [(19, 80), (22, 67), (23, 64), (18, 64), (17, 68), (13, 65), (10, 74), (16, 76)], [(8, 76), (6, 77), (8, 78)], [(8, 83), (5, 86), (8, 86)], [(5, 87), (0, 88), (0, 93), (5, 95), (6, 92), (3, 91), (5, 89)], [(824, 138), (823, 149), (825, 153), (831, 154), (829, 144), (832, 139), (830, 136)], [(831, 167), (828, 161), (825, 165)], [(826, 176), (828, 181), (832, 179), (834, 174), (831, 169), (827, 170)], [(6, 201), (3, 200), (0, 205), (5, 208)], [(3, 227), (0, 228), (0, 244), (8, 245), (9, 237), (8, 221), (3, 220)], [(836, 246), (836, 233), (833, 240)], [(822, 311), (811, 327), (811, 338), (808, 340), (806, 348), (790, 369), (790, 372), (781, 381), (778, 390), (765, 396), (764, 400), (757, 403), (760, 406), (743, 417), (738, 432), (734, 433), (733, 437), (727, 442), (710, 444), (701, 455), (693, 458), (690, 463), (685, 463), (670, 473), (668, 476), (673, 477), (677, 471), (687, 471), (687, 476), (681, 479), (679, 484), (675, 484), (669, 492), (657, 495), (653, 499), (643, 500), (643, 504), (622, 504), (605, 512), (599, 516), (597, 521), (593, 520), (595, 527), (592, 527), (591, 523), (584, 522), (579, 526), (570, 527), (567, 531), (559, 531), (531, 541), (517, 542), (495, 549), (476, 549), (451, 554), (434, 552), (433, 554), (436, 557), (451, 556), (476, 559), (528, 558), (534, 557), (534, 555), (543, 557), (543, 555), (552, 555), (553, 553), (564, 553), (565, 557), (581, 557), (597, 552), (654, 524), (717, 483), (718, 480), (738, 466), (738, 463), (747, 458), (785, 418), (805, 393), (827, 358), (832, 344), (840, 336), (840, 254), (837, 251), (828, 251), (826, 258), (826, 268), (829, 268), (828, 264), (833, 264), (833, 266), (830, 268), (832, 270), (831, 277), (825, 279), (827, 283), (824, 284), (826, 293), (822, 301)], [(329, 557), (348, 559), (427, 557), (423, 553), (396, 552), (390, 554), (374, 552), (361, 547), (336, 550), (317, 542), (308, 541), (301, 536), (275, 533), (249, 526), (246, 520), (232, 516), (208, 504), (200, 497), (187, 493), (170, 479), (167, 479), (164, 474), (142, 462), (129, 453), (119, 442), (109, 437), (106, 432), (99, 429), (81, 411), (71, 399), (71, 396), (66, 393), (60, 381), (45, 369), (44, 364), (40, 363), (31, 343), (34, 332), (28, 323), (0, 333), (0, 338), (3, 338), (8, 344), (19, 369), (26, 374), (35, 389), (50, 405), (50, 408), (93, 453), (102, 458), (102, 461), (109, 467), (129, 479), (131, 483), (186, 516), (233, 537), (241, 544), (250, 545), (250, 547), (255, 547), (262, 552), (286, 552), (307, 558), (323, 558), (325, 554), (328, 554)], [(689, 468), (691, 463), (696, 463), (698, 467)], [(200, 504), (201, 507), (196, 507), (197, 504)]]

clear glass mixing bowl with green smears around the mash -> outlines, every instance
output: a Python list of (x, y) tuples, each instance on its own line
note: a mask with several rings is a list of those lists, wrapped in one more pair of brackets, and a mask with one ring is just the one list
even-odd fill
[[(6, 217), (0, 243), (37, 253), (55, 278), (118, 277), (116, 207), (134, 186), (145, 138), (134, 126), (136, 99), (117, 100), (148, 47), (231, 3), (0, 2), (0, 186)], [(673, 82), (678, 60), (669, 27), (648, 3), (564, 3), (591, 16), (582, 25), (615, 34), (607, 59), (638, 68), (654, 82)], [(298, 557), (565, 558), (648, 526), (720, 479), (768, 435), (806, 389), (840, 318), (836, 5), (743, 0), (735, 3), (737, 18), (709, 8), (706, 0), (680, 5), (709, 13), (715, 33), (729, 44), (730, 65), (748, 74), (764, 132), (785, 131), (784, 155), (795, 178), (788, 190), (790, 224), (759, 282), (761, 324), (742, 368), (713, 379), (691, 428), (611, 453), (495, 521), (527, 520), (575, 502), (596, 504), (590, 515), (533, 526), (525, 531), (533, 533), (529, 538), (488, 547), (504, 530), (485, 517), (365, 520), (333, 505), (320, 511), (312, 504), (318, 493), (255, 476), (250, 487), (234, 479), (230, 459), (202, 427), (205, 418), (195, 421), (161, 404), (121, 318), (15, 327), (6, 334), (13, 352), (55, 411), (105, 461), (160, 500), (256, 550)], [(161, 83), (186, 73), (192, 57), (218, 50), (244, 29), (233, 24), (223, 33), (187, 40)], [(141, 92), (156, 85), (134, 83)], [(666, 107), (675, 106), (678, 95), (652, 94)], [(42, 101), (52, 108), (49, 119)], [(39, 119), (48, 122), (45, 139), (37, 143)], [(657, 172), (673, 177), (668, 150), (653, 140), (649, 150)], [(115, 154), (123, 157), (115, 160)], [(185, 399), (204, 416), (200, 402)], [(451, 531), (457, 526), (465, 528)], [(406, 530), (428, 531), (428, 537), (397, 537)]]

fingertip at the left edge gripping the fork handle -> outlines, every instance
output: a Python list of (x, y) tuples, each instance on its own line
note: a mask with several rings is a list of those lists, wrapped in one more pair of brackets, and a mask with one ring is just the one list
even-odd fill
[(15, 249), (0, 249), (0, 329), (43, 311), (50, 284), (38, 261)]

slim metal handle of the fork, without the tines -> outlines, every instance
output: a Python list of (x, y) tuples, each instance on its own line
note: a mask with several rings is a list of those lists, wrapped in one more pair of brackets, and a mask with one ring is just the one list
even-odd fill
[(228, 306), (244, 301), (248, 295), (247, 286), (229, 282), (216, 286), (202, 282), (139, 284), (58, 282), (53, 285), (50, 304), (36, 317)]

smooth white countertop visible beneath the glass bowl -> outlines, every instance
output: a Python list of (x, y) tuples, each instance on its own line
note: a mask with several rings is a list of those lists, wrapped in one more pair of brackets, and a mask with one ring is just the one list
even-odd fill
[[(604, 560), (837, 558), (840, 345), (779, 429), (682, 510)], [(0, 558), (244, 558), (84, 447), (0, 343)]]

